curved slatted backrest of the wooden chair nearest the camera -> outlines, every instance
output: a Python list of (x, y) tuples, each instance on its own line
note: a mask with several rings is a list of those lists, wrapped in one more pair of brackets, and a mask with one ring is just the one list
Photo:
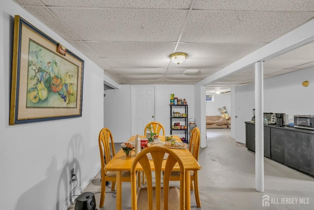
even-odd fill
[[(152, 168), (150, 161), (148, 159), (147, 153), (151, 153), (154, 169), (155, 169), (155, 191), (156, 191), (156, 210), (162, 209), (161, 207), (161, 166), (164, 158), (164, 154), (168, 153), (168, 157), (165, 164), (164, 175), (163, 175), (163, 204), (164, 210), (168, 209), (168, 195), (169, 195), (169, 180), (173, 167), (176, 163), (180, 166), (180, 210), (184, 210), (184, 178), (185, 178), (185, 168), (182, 159), (173, 150), (163, 147), (150, 147), (142, 150), (138, 155), (135, 156), (131, 164), (131, 201), (132, 210), (137, 209), (137, 198), (136, 198), (136, 166), (138, 163), (144, 170), (146, 180), (147, 180), (147, 198), (149, 210), (153, 210), (153, 177)], [(137, 169), (138, 170), (138, 169)], [(171, 199), (171, 198), (170, 198)], [(170, 201), (171, 202), (171, 201)]]

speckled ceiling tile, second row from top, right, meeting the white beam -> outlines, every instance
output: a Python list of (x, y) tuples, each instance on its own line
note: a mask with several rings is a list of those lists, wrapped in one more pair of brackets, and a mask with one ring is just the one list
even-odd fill
[(314, 12), (193, 10), (182, 42), (268, 43), (314, 17)]

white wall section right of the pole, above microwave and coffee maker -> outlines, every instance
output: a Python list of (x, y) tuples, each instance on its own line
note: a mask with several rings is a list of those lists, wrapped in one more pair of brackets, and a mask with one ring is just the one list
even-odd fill
[[(308, 87), (303, 87), (304, 81)], [(314, 115), (314, 67), (264, 80), (264, 112)]]

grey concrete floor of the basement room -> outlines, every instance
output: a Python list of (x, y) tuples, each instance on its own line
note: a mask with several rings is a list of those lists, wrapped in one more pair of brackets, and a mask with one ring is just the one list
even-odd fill
[[(257, 192), (254, 153), (230, 138), (228, 128), (207, 129), (207, 148), (200, 149), (199, 163), (202, 208), (196, 208), (191, 191), (191, 210), (314, 210), (314, 179), (268, 158), (264, 158), (264, 192)], [(122, 208), (130, 210), (131, 185), (122, 185)], [(95, 194), (98, 210), (115, 210), (115, 194), (109, 187), (105, 206), (99, 208), (100, 189), (99, 173), (84, 192)], [(264, 198), (269, 207), (262, 206), (262, 196), (269, 196)], [(74, 210), (74, 205), (70, 210)]]

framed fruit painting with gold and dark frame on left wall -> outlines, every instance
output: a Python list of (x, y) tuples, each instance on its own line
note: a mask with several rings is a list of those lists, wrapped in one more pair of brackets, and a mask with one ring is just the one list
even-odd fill
[(60, 46), (15, 16), (10, 125), (82, 116), (84, 60)]

